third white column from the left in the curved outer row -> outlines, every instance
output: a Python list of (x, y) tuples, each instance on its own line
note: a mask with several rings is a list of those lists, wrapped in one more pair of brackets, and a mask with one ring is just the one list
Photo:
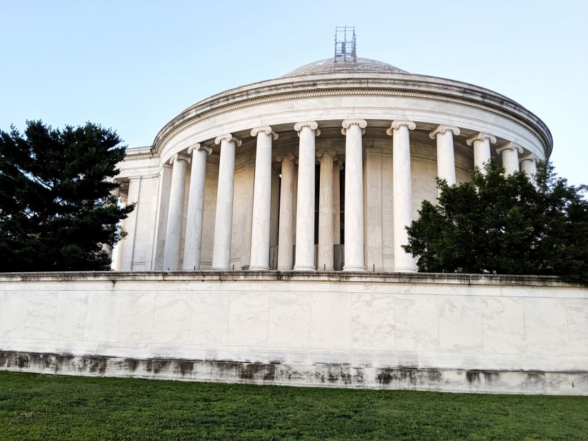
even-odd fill
[(229, 133), (217, 136), (214, 143), (221, 144), (221, 160), (219, 162), (219, 187), (216, 190), (216, 218), (214, 219), (211, 269), (221, 270), (229, 269), (231, 263), (235, 147), (241, 145), (241, 140)]

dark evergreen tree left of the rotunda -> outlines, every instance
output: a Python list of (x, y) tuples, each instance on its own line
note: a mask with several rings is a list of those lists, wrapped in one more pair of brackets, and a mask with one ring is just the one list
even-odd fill
[(0, 271), (110, 269), (123, 236), (112, 178), (125, 146), (92, 123), (53, 130), (27, 121), (0, 131)]

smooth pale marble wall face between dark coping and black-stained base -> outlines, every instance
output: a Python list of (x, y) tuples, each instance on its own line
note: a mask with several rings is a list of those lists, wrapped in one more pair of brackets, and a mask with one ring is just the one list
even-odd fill
[(247, 271), (8, 276), (0, 351), (587, 373), (588, 289), (345, 279)]

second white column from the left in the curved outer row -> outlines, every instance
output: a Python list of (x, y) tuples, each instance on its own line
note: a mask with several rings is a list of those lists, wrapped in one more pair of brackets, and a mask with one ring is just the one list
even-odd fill
[(190, 174), (190, 193), (187, 201), (183, 269), (195, 270), (200, 269), (206, 157), (212, 153), (212, 148), (198, 143), (192, 145), (187, 153), (192, 154), (192, 173)]

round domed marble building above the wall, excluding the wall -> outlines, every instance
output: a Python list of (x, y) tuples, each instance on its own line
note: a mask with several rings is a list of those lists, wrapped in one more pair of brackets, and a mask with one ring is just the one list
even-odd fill
[(436, 176), (534, 174), (547, 126), (507, 97), (371, 59), (315, 61), (177, 115), (118, 178), (121, 271), (415, 271), (405, 226)]

